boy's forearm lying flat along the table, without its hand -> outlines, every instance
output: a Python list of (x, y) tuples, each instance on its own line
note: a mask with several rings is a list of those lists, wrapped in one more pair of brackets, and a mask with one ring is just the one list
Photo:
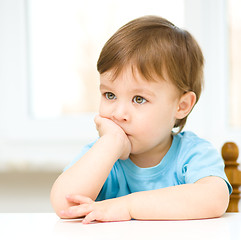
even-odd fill
[[(228, 190), (222, 179), (205, 180), (128, 196), (134, 219), (200, 219), (221, 216), (228, 205)], [(216, 181), (217, 180), (217, 181)]]

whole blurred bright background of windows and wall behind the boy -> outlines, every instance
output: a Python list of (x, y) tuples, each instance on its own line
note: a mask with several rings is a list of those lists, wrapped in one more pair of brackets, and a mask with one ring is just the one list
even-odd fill
[(52, 212), (51, 186), (97, 137), (96, 62), (123, 24), (159, 15), (189, 30), (205, 89), (185, 130), (241, 147), (241, 0), (0, 0), (0, 212)]

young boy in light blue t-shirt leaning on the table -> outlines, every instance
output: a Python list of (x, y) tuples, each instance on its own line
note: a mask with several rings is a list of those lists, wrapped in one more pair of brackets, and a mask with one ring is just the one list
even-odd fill
[(226, 211), (232, 188), (221, 156), (181, 132), (201, 93), (203, 62), (193, 37), (160, 17), (135, 19), (107, 41), (97, 64), (100, 138), (54, 183), (58, 216), (90, 223)]

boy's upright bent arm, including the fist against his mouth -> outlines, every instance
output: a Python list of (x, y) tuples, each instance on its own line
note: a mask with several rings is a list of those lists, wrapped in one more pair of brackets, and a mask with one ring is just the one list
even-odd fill
[(66, 200), (66, 195), (79, 194), (96, 199), (117, 159), (126, 159), (130, 142), (124, 131), (113, 121), (95, 119), (100, 138), (94, 146), (71, 168), (63, 172), (51, 190), (51, 202), (56, 213), (76, 204)]

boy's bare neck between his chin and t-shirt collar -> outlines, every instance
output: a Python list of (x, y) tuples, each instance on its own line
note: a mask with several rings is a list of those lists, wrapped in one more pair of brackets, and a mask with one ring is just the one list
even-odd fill
[(130, 154), (130, 159), (141, 168), (149, 168), (158, 165), (172, 145), (172, 136), (155, 148), (140, 154)]

